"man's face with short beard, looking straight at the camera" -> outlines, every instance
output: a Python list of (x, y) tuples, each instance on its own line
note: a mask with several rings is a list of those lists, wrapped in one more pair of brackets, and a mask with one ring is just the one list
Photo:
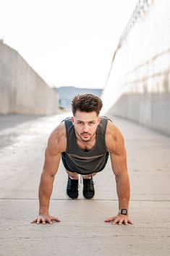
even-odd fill
[(72, 123), (75, 126), (75, 133), (81, 141), (91, 141), (98, 128), (101, 118), (98, 117), (95, 111), (80, 112), (77, 110), (75, 116), (72, 117)]

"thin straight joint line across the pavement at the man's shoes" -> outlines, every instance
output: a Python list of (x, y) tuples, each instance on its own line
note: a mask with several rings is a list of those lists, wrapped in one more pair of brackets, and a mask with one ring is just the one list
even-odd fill
[[(38, 201), (39, 199), (36, 198), (0, 198), (0, 200), (33, 200)], [(51, 199), (51, 201), (112, 201), (112, 202), (118, 202), (118, 199)], [(170, 202), (170, 200), (161, 200), (161, 199), (132, 199), (130, 202)]]

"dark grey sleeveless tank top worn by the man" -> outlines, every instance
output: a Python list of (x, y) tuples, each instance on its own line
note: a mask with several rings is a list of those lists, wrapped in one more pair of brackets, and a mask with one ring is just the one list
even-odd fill
[(106, 126), (107, 117), (101, 117), (101, 122), (96, 131), (96, 141), (93, 149), (88, 152), (83, 151), (77, 144), (75, 128), (71, 118), (64, 120), (67, 131), (67, 149), (64, 152), (64, 159), (69, 170), (80, 174), (89, 174), (103, 170), (109, 157), (106, 149)]

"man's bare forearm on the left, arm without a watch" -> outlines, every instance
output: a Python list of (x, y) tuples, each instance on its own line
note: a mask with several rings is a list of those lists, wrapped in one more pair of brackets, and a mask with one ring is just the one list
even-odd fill
[(49, 202), (53, 190), (54, 176), (41, 174), (41, 181), (39, 186), (39, 214), (48, 213)]

